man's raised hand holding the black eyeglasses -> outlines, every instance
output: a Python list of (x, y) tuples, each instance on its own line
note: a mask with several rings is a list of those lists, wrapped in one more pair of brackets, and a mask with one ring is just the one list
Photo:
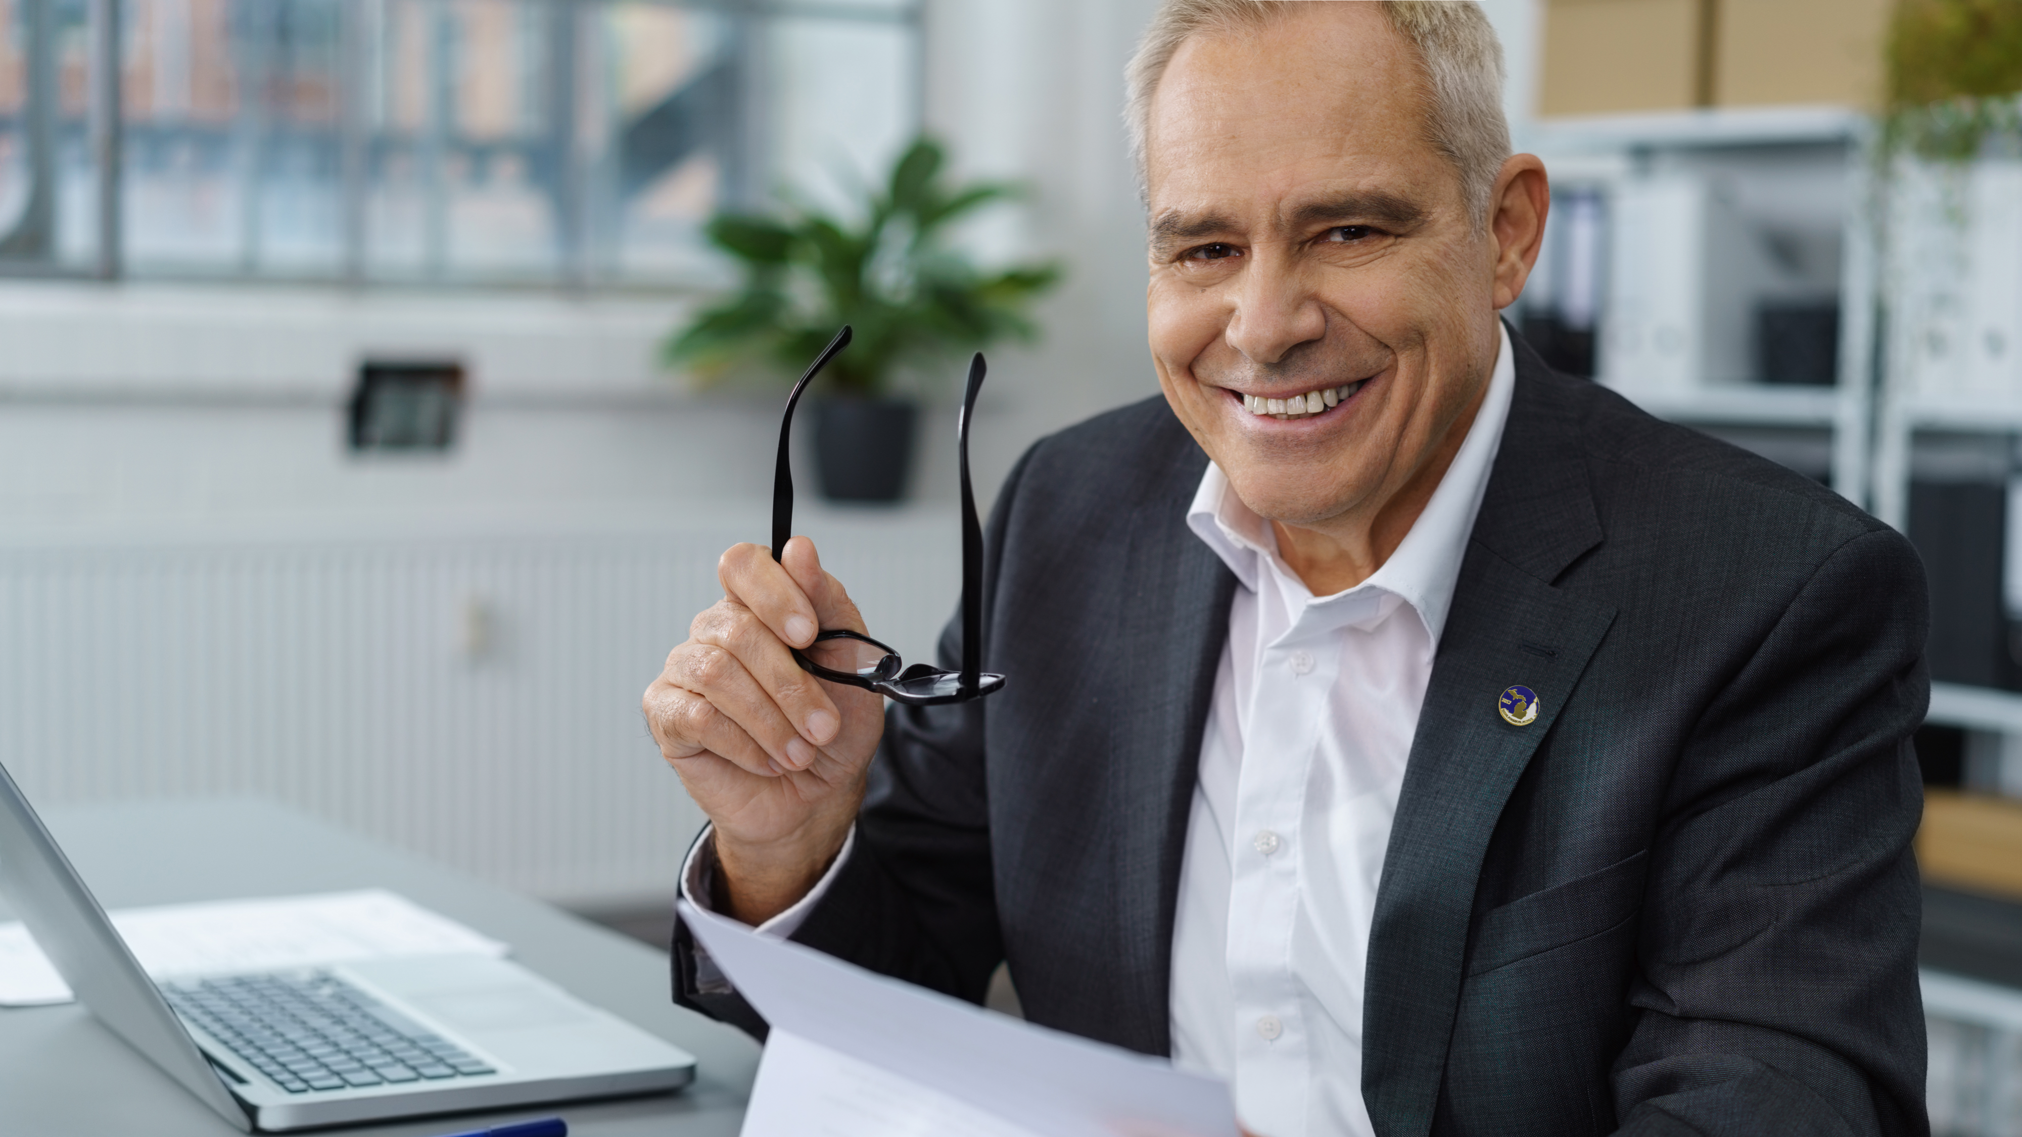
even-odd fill
[[(884, 698), (803, 672), (793, 647), (823, 627), (867, 633), (857, 605), (797, 536), (780, 562), (738, 544), (716, 566), (724, 599), (690, 625), (645, 690), (667, 765), (716, 825), (724, 914), (758, 925), (807, 894), (843, 848), (884, 732)], [(855, 670), (853, 641), (809, 655)]]

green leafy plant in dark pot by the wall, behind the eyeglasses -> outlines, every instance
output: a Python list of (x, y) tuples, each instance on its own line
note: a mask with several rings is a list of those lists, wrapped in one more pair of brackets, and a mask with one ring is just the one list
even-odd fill
[(740, 263), (744, 283), (667, 340), (667, 362), (702, 382), (738, 364), (791, 380), (837, 328), (855, 328), (815, 403), (815, 457), (831, 500), (898, 500), (918, 419), (916, 403), (894, 388), (898, 374), (1005, 336), (1031, 340), (1025, 312), (1060, 279), (1051, 263), (985, 271), (950, 247), (950, 223), (1013, 190), (950, 186), (944, 164), (936, 142), (916, 140), (857, 218), (805, 204), (772, 216), (716, 214), (710, 243)]

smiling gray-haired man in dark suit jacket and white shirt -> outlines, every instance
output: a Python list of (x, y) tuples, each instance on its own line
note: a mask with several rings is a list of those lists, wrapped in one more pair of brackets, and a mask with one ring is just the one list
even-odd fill
[(1474, 4), (1167, 0), (1130, 115), (1165, 399), (1005, 484), (1005, 690), (811, 680), (843, 585), (732, 548), (645, 698), (683, 888), (1009, 961), (1268, 1137), (1923, 1133), (1911, 548), (1502, 326), (1549, 188)]

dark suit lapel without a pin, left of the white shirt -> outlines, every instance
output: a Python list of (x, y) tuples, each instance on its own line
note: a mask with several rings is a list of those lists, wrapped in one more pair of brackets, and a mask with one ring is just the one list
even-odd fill
[[(1179, 425), (1175, 433), (1179, 433)], [(1116, 716), (1110, 724), (1106, 793), (1114, 819), (1108, 866), (1114, 882), (1118, 981), (1130, 985), (1126, 1008), (1144, 1022), (1126, 1026), (1128, 1046), (1171, 1052), (1169, 987), (1173, 914), (1187, 815), (1201, 757), (1201, 730), (1215, 690), (1215, 668), (1229, 635), (1235, 577), (1187, 528), (1207, 457), (1183, 435), (1169, 469), (1144, 471), (1130, 510), (1124, 603), (1116, 641)]]

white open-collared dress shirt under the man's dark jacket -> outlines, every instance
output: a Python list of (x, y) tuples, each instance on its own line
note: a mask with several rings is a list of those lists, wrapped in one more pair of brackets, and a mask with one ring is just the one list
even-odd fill
[[(1432, 502), (1361, 585), (1314, 597), (1209, 465), (1187, 524), (1239, 587), (1201, 738), (1173, 927), (1173, 1062), (1221, 1076), (1264, 1137), (1373, 1135), (1363, 961), (1397, 791), (1516, 384), (1508, 332)], [(1256, 755), (1256, 757), (1250, 757)], [(681, 892), (708, 906), (696, 842)], [(835, 866), (849, 858), (855, 829)], [(758, 927), (791, 937), (835, 866)]]

